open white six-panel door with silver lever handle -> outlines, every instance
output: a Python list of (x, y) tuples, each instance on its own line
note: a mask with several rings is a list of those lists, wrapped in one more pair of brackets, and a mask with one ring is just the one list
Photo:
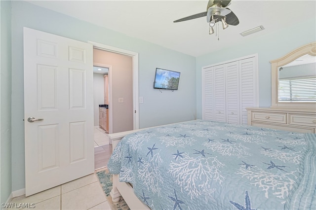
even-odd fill
[(26, 196), (94, 172), (92, 68), (91, 44), (24, 28)]

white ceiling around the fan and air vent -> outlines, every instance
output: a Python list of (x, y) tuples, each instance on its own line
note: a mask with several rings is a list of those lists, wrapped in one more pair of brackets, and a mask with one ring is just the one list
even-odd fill
[[(29, 2), (192, 56), (204, 55), (267, 35), (281, 27), (292, 25), (293, 30), (297, 30), (297, 26), (305, 19), (316, 19), (316, 0), (232, 0), (228, 8), (237, 15), (240, 23), (224, 31), (220, 26), (217, 40), (215, 34), (208, 34), (206, 17), (173, 23), (174, 20), (206, 11), (208, 0)], [(245, 37), (240, 35), (260, 25), (265, 30)]]

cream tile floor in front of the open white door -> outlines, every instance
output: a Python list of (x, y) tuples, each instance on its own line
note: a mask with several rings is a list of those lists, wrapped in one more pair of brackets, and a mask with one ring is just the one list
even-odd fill
[(34, 204), (33, 210), (111, 210), (96, 174), (81, 177), (29, 197), (23, 195), (13, 198), (11, 203), (16, 206)]

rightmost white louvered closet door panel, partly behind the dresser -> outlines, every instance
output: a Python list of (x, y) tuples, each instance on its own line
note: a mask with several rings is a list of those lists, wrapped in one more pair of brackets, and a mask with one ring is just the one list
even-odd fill
[(240, 113), (244, 125), (247, 124), (246, 107), (258, 105), (256, 69), (254, 57), (239, 61)]

